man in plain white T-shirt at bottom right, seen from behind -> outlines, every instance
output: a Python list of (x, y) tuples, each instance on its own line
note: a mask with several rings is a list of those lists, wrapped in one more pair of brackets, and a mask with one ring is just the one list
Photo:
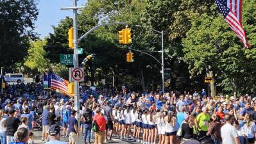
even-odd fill
[(240, 144), (237, 130), (232, 125), (232, 116), (225, 115), (226, 124), (221, 127), (221, 138), (223, 144)]

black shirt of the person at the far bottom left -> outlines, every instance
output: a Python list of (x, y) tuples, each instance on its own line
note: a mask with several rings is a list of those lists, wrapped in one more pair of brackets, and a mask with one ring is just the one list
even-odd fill
[(19, 124), (21, 124), (21, 120), (15, 117), (8, 117), (5, 120), (6, 124), (6, 135), (14, 136), (14, 133), (17, 131)]

